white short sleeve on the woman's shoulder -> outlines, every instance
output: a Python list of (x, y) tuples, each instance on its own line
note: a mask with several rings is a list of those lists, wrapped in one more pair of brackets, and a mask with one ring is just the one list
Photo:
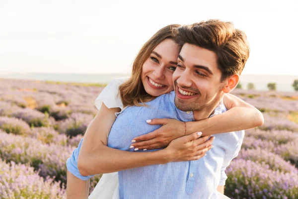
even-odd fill
[(122, 110), (123, 103), (120, 96), (118, 95), (118, 91), (119, 86), (122, 85), (126, 80), (127, 78), (117, 78), (112, 80), (94, 101), (96, 108), (99, 110), (103, 102), (108, 108), (119, 107)]

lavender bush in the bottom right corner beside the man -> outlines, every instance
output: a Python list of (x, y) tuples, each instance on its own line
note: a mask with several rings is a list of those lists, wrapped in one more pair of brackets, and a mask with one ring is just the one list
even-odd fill
[[(281, 196), (296, 199), (298, 196), (297, 173), (270, 170), (266, 163), (236, 159), (225, 170), (225, 194), (232, 198), (270, 198)], [(237, 190), (237, 192), (235, 192)]]

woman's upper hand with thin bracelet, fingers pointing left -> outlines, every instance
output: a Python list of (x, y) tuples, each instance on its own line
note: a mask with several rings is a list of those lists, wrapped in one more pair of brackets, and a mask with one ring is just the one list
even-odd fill
[(138, 136), (133, 139), (133, 146), (136, 149), (159, 149), (165, 148), (172, 140), (185, 134), (185, 123), (176, 119), (150, 119), (151, 125), (162, 125), (160, 128)]

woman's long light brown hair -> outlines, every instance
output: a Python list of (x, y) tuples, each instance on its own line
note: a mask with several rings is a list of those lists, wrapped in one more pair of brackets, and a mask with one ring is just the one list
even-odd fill
[(141, 80), (143, 64), (150, 56), (153, 49), (163, 40), (173, 39), (176, 41), (173, 31), (179, 26), (180, 25), (178, 24), (172, 24), (161, 28), (141, 48), (133, 64), (132, 76), (119, 87), (119, 95), (121, 97), (123, 107), (130, 105), (141, 106), (142, 103), (156, 98), (150, 96), (144, 89), (144, 85)]

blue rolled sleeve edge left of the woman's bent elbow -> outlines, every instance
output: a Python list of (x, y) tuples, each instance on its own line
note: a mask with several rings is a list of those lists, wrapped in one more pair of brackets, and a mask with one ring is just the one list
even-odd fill
[(66, 167), (67, 167), (67, 170), (69, 172), (71, 172), (76, 178), (78, 178), (80, 180), (83, 180), (83, 181), (87, 181), (91, 177), (93, 177), (94, 175), (91, 175), (91, 176), (82, 176), (79, 173), (78, 168), (77, 168), (77, 158), (78, 158), (78, 153), (79, 153), (79, 150), (81, 148), (82, 142), (83, 142), (83, 138), (80, 140), (77, 148), (74, 149), (74, 152), (73, 152), (72, 156), (67, 159), (67, 161), (66, 161)]

